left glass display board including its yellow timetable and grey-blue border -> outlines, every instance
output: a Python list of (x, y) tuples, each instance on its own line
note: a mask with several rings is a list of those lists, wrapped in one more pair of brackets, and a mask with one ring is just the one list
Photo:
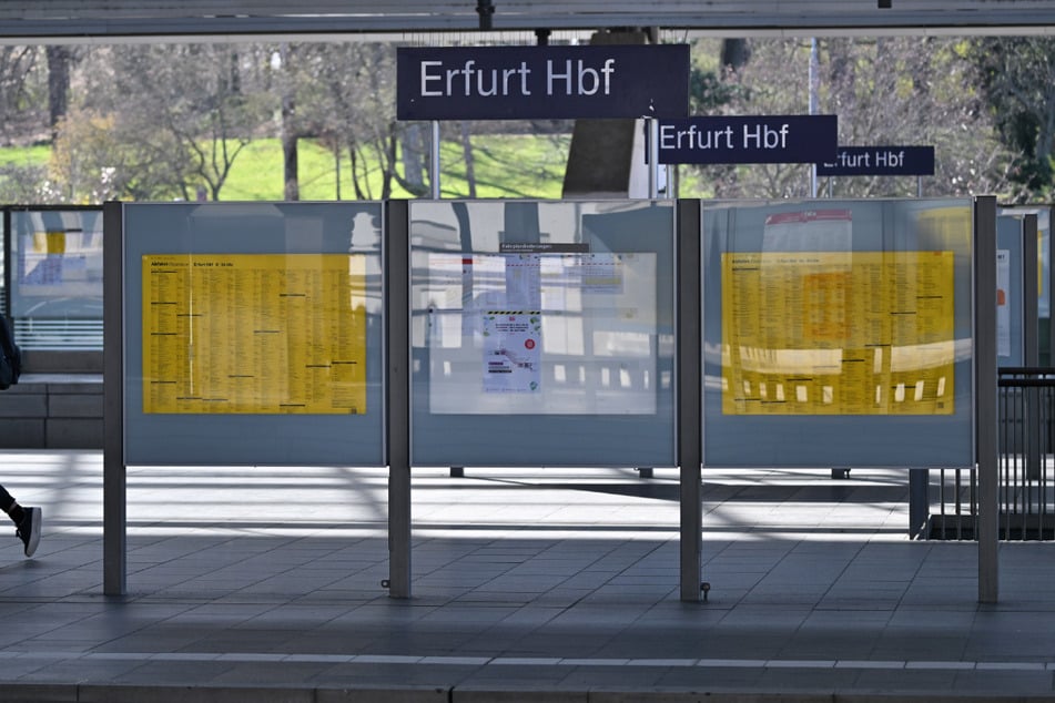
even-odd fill
[(379, 204), (123, 218), (129, 463), (384, 463)]

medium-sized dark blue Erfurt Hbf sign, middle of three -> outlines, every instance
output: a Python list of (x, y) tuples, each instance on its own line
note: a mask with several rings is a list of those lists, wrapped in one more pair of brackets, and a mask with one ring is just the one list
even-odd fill
[(659, 163), (816, 163), (834, 159), (835, 115), (707, 116), (659, 121)]

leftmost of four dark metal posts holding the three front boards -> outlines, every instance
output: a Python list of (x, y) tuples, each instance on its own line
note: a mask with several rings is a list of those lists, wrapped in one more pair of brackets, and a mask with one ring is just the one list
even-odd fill
[(124, 466), (124, 211), (103, 204), (103, 593), (128, 591), (128, 491)]

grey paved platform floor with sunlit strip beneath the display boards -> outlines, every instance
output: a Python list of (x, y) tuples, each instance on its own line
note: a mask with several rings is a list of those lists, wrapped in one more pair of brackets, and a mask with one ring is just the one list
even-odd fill
[(111, 599), (101, 454), (0, 461), (44, 508), (35, 558), (0, 539), (0, 701), (1055, 701), (1055, 544), (980, 605), (899, 471), (709, 472), (696, 604), (674, 470), (417, 471), (403, 601), (381, 470), (132, 468)]

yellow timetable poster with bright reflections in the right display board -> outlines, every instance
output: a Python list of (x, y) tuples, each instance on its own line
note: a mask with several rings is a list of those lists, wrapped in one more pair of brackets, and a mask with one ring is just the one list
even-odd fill
[(722, 254), (722, 414), (951, 415), (953, 252)]

